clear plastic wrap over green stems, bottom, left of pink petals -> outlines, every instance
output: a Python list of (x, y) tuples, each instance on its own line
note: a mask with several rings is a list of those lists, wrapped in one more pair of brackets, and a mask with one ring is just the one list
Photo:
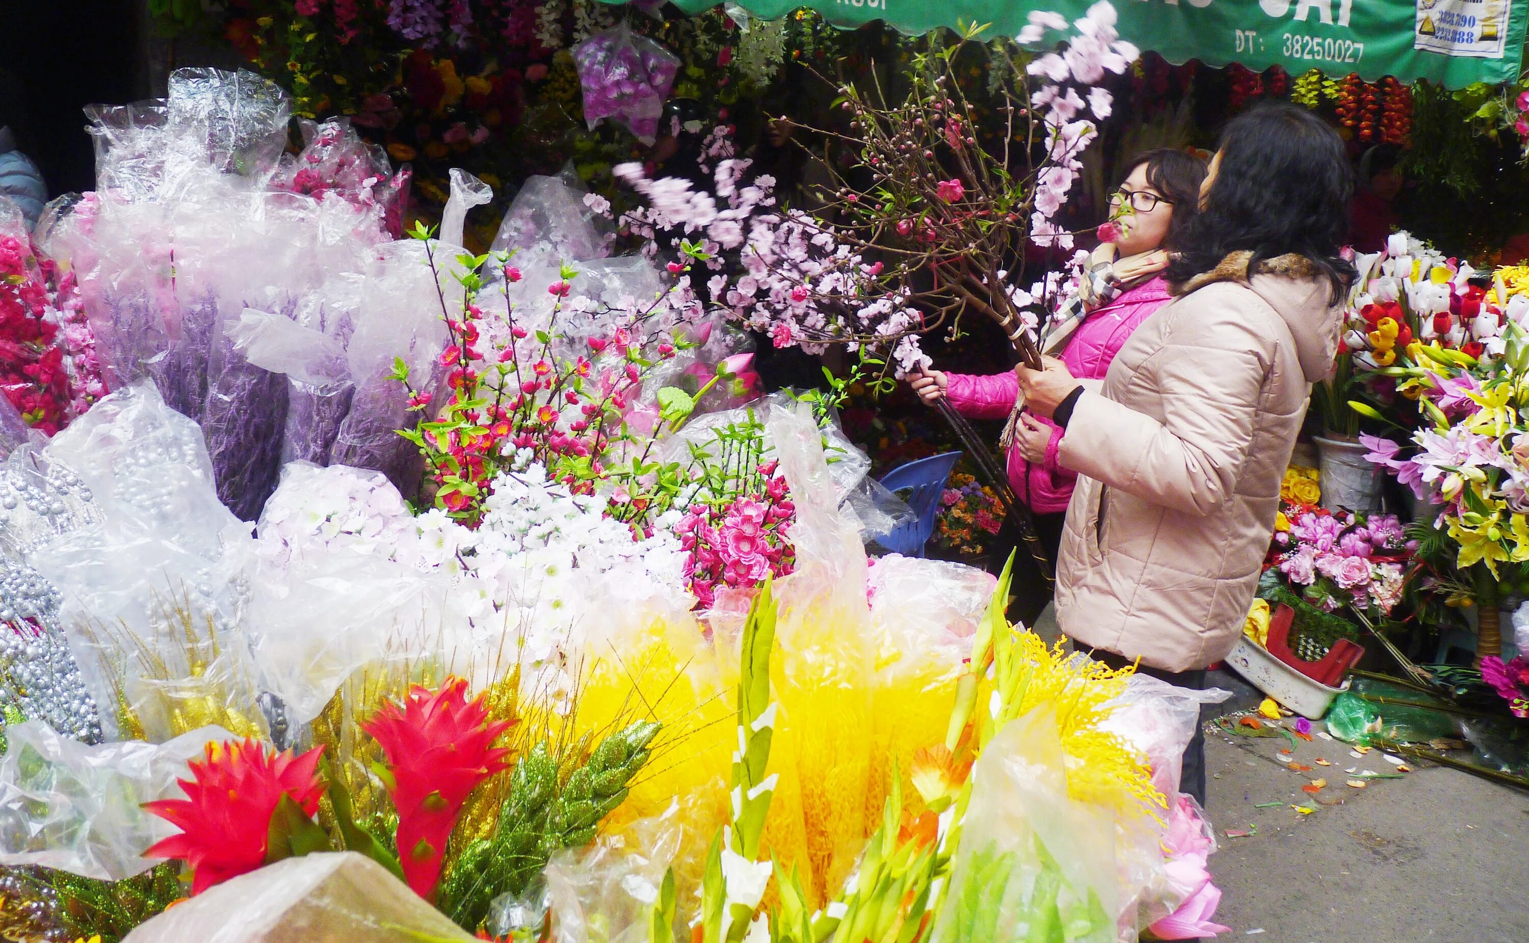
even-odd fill
[(1115, 943), (1115, 822), (1067, 796), (1050, 705), (1006, 724), (972, 770), (934, 943)]

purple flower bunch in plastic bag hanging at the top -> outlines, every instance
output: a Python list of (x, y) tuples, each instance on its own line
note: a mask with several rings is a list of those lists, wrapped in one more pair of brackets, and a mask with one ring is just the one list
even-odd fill
[(657, 139), (679, 57), (621, 23), (575, 46), (573, 61), (589, 127), (610, 118), (644, 144)]

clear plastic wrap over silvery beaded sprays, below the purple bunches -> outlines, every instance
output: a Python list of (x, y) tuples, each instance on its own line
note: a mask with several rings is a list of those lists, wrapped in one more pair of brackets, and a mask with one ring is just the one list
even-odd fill
[(64, 593), (64, 630), (113, 737), (124, 717), (107, 705), (128, 706), (135, 679), (196, 677), (220, 651), (240, 651), (231, 550), (248, 536), (217, 500), (200, 431), (153, 384), (102, 399), (43, 457), (73, 469), (104, 517), (29, 562)]

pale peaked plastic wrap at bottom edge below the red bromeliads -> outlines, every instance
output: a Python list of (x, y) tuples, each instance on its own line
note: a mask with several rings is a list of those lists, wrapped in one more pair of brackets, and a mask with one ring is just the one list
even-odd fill
[(355, 851), (240, 874), (141, 923), (124, 943), (472, 943), (472, 935)]

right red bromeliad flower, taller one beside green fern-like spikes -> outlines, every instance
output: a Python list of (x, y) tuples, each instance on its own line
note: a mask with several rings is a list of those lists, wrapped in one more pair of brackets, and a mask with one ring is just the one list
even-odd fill
[(483, 697), (468, 703), (466, 689), (462, 679), (446, 679), (434, 692), (414, 685), (402, 709), (387, 703), (361, 724), (387, 753), (399, 862), (408, 886), (427, 900), (440, 880), (462, 804), (479, 783), (509, 766), (509, 750), (491, 744), (511, 724), (489, 723)]

